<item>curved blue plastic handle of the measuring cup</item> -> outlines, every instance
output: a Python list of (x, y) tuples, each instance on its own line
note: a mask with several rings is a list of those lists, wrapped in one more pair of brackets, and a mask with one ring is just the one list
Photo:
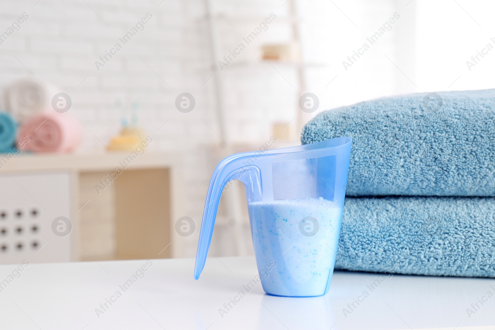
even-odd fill
[(198, 252), (196, 254), (196, 265), (194, 269), (194, 278), (196, 280), (198, 280), (199, 274), (201, 274), (206, 262), (218, 204), (220, 203), (220, 197), (222, 196), (225, 185), (231, 180), (240, 180), (246, 188), (248, 201), (261, 200), (261, 173), (259, 168), (254, 165), (246, 166), (248, 163), (245, 160), (249, 156), (249, 154), (245, 154), (242, 157), (233, 155), (224, 158), (217, 165), (211, 176), (203, 209), (201, 231), (199, 232)]

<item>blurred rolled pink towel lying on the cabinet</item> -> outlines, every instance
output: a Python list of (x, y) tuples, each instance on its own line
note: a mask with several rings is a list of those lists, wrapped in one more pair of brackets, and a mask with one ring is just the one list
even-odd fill
[(43, 112), (21, 125), (17, 141), (24, 141), (22, 150), (64, 153), (73, 151), (79, 145), (81, 135), (79, 123), (70, 116)]

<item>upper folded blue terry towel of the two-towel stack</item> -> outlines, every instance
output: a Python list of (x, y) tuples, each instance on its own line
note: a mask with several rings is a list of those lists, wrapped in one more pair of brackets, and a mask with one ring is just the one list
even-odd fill
[(495, 90), (411, 94), (324, 111), (303, 144), (352, 139), (347, 195), (495, 196)]

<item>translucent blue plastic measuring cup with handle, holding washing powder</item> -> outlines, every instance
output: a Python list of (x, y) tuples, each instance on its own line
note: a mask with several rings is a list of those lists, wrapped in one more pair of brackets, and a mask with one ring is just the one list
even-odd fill
[(246, 188), (259, 273), (268, 294), (315, 297), (328, 292), (339, 242), (350, 138), (224, 158), (206, 195), (194, 277), (206, 262), (220, 196), (231, 180)]

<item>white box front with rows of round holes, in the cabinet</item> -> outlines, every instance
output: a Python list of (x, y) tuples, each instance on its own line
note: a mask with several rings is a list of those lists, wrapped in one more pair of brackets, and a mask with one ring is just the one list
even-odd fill
[(69, 173), (0, 174), (0, 187), (0, 263), (70, 261), (74, 233), (52, 230), (71, 217)]

